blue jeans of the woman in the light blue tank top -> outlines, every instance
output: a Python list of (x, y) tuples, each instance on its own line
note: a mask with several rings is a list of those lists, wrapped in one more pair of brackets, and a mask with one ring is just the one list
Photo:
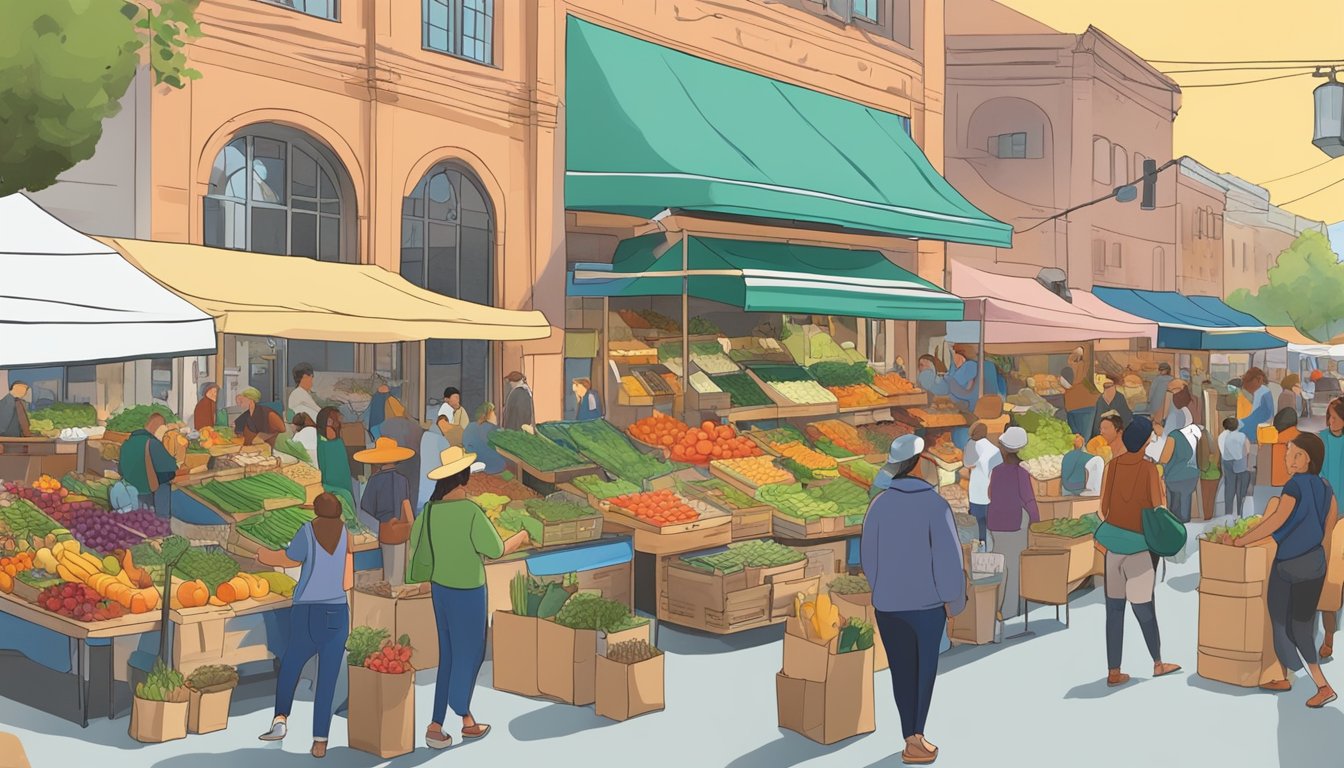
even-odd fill
[(289, 642), (280, 659), (276, 681), (276, 716), (289, 717), (294, 689), (308, 659), (317, 656), (317, 694), (313, 698), (313, 738), (327, 738), (332, 729), (336, 679), (344, 666), (349, 636), (349, 605), (345, 603), (296, 603), (289, 609)]

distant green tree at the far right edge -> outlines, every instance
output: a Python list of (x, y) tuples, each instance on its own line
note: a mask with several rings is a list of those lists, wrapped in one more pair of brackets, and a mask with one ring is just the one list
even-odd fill
[(1327, 340), (1344, 321), (1344, 264), (1318, 231), (1298, 235), (1269, 270), (1269, 282), (1251, 293), (1238, 289), (1227, 303), (1267, 325), (1293, 325)]

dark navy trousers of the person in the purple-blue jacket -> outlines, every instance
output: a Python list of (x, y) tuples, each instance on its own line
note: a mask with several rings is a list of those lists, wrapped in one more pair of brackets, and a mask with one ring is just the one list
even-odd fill
[(891, 689), (900, 712), (902, 736), (923, 733), (938, 677), (938, 646), (948, 627), (943, 608), (878, 611), (878, 631), (887, 647)]

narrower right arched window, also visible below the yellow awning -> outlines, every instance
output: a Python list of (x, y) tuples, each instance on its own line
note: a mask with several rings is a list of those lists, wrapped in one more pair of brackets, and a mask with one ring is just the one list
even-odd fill
[[(402, 199), (402, 277), (444, 296), (489, 305), (493, 254), (495, 215), (481, 184), (448, 163), (430, 168)], [(489, 342), (426, 342), (426, 398), (433, 405), (450, 386), (461, 390), (469, 410), (489, 398)]]

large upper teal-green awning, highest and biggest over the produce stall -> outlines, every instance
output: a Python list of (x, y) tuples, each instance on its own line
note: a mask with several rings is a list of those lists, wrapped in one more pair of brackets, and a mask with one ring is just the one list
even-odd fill
[(667, 208), (1008, 247), (907, 120), (569, 19), (564, 207)]

